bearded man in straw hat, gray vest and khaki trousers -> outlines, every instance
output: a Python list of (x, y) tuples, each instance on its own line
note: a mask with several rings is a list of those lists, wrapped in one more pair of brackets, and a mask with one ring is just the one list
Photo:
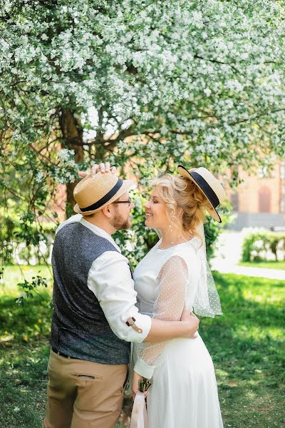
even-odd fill
[(133, 183), (106, 170), (76, 185), (81, 215), (56, 231), (45, 428), (114, 428), (130, 342), (193, 337), (199, 325), (195, 315), (166, 322), (138, 312), (128, 259), (111, 237), (130, 228)]

